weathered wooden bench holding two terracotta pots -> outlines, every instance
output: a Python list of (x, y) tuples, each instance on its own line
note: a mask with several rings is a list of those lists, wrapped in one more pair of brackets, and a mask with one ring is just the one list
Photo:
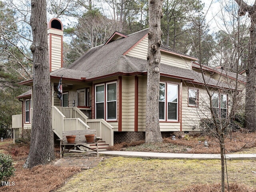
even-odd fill
[[(93, 143), (86, 142), (85, 135), (88, 135), (88, 134), (94, 134), (95, 135)], [(68, 136), (68, 135), (75, 135), (76, 136), (76, 139), (75, 139), (74, 143), (68, 143), (68, 141), (66, 139), (66, 136)], [(90, 150), (93, 150), (93, 151), (97, 152), (97, 157), (99, 156), (98, 140), (100, 140), (101, 138), (96, 137), (96, 129), (63, 131), (62, 132), (62, 138), (63, 139), (59, 139), (60, 140), (60, 158), (62, 158), (64, 152), (66, 151), (66, 146), (71, 146), (71, 148), (67, 149), (68, 151), (82, 146), (84, 148), (88, 148)], [(96, 144), (96, 150), (90, 148), (89, 144)]]

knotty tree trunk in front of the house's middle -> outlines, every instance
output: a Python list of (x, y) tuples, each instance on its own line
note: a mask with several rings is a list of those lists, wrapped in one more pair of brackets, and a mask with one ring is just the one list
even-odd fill
[(159, 82), (160, 82), (160, 45), (162, 30), (162, 0), (149, 0), (148, 30), (148, 77), (146, 101), (146, 138), (145, 142), (162, 142), (159, 126)]

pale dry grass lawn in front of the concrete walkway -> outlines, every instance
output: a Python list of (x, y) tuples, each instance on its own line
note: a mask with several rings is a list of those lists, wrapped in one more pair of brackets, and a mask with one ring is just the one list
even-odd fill
[[(230, 192), (256, 192), (256, 161), (228, 161)], [(76, 174), (58, 192), (218, 192), (220, 160), (114, 157)], [(190, 186), (192, 188), (190, 189)], [(240, 187), (240, 189), (238, 188)], [(192, 190), (198, 188), (200, 190)], [(208, 190), (212, 188), (213, 190)]]

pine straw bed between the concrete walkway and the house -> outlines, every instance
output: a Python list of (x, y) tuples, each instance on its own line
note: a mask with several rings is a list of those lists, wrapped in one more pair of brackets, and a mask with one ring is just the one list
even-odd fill
[[(208, 147), (204, 146), (207, 141)], [(201, 141), (201, 144), (199, 144)], [(233, 132), (231, 136), (225, 139), (226, 154), (228, 153), (256, 153), (256, 133)], [(144, 152), (162, 152), (162, 153), (220, 153), (220, 144), (218, 140), (210, 136), (185, 136), (184, 138), (171, 137), (164, 138), (163, 143), (145, 144), (144, 141), (115, 144), (109, 150), (127, 150)]]

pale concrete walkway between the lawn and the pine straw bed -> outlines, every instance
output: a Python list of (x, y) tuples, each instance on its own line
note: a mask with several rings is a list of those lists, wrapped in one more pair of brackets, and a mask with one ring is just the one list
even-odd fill
[[(161, 159), (220, 159), (220, 154), (189, 154), (189, 153), (154, 153), (134, 151), (100, 151), (99, 154), (109, 156), (161, 158)], [(256, 160), (256, 154), (226, 154), (227, 160)]]

